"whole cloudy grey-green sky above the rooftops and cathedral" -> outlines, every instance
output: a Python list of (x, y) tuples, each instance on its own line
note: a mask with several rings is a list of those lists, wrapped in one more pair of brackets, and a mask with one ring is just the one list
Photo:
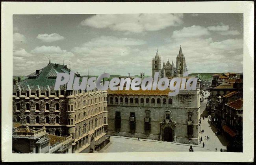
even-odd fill
[(161, 65), (176, 64), (182, 47), (188, 73), (243, 72), (243, 14), (13, 15), (13, 75), (51, 63), (87, 75), (152, 76), (156, 49)]

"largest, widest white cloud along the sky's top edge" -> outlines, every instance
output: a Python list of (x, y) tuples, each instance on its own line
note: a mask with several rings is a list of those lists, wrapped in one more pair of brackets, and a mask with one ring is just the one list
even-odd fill
[(182, 18), (182, 14), (107, 14), (87, 18), (81, 22), (81, 25), (109, 28), (114, 31), (141, 33), (180, 25), (182, 24)]

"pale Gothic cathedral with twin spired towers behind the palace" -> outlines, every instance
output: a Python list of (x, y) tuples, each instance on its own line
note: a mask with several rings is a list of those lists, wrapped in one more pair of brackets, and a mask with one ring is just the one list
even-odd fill
[(172, 63), (168, 61), (163, 62), (163, 68), (161, 69), (161, 57), (158, 54), (158, 50), (156, 49), (156, 56), (152, 60), (152, 77), (154, 74), (159, 72), (159, 78), (167, 77), (182, 77), (185, 72), (187, 72), (187, 65), (185, 56), (182, 53), (182, 49), (180, 46), (180, 51), (176, 57), (176, 67), (174, 67), (173, 61)]

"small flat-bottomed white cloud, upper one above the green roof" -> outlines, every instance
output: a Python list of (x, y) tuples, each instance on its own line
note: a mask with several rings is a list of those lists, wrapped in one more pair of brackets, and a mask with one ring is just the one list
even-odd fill
[(41, 47), (35, 47), (31, 51), (31, 53), (35, 54), (61, 54), (61, 53), (66, 53), (66, 50), (61, 50), (59, 46), (41, 46)]

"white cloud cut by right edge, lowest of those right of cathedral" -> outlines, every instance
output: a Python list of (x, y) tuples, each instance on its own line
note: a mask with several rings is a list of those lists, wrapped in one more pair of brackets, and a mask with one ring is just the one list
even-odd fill
[(210, 44), (215, 49), (221, 49), (225, 51), (232, 51), (243, 48), (243, 39), (228, 39), (220, 42), (213, 42)]

